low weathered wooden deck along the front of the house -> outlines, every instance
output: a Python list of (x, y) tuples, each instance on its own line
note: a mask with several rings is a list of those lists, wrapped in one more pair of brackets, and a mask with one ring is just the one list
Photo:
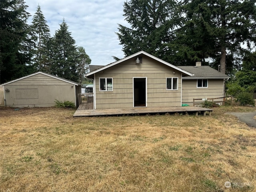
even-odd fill
[(202, 113), (204, 116), (206, 112), (209, 115), (212, 109), (202, 107), (134, 107), (134, 108), (118, 108), (118, 109), (93, 109), (93, 103), (81, 104), (73, 117), (88, 117), (88, 116), (112, 116), (112, 115), (134, 115), (134, 114), (163, 114), (163, 113)]

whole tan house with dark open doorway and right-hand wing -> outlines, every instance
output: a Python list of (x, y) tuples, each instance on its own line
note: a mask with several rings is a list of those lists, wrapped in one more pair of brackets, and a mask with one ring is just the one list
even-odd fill
[[(203, 70), (206, 68), (201, 67), (202, 70), (196, 72), (185, 67), (174, 66), (140, 51), (91, 70), (86, 77), (94, 82), (94, 109), (171, 107), (191, 103), (193, 98), (209, 98), (214, 95), (212, 92), (218, 92), (214, 95), (216, 97), (223, 97), (223, 82), (228, 76), (211, 68), (214, 72), (218, 72), (218, 76), (215, 76), (216, 82), (214, 79), (208, 80), (206, 79), (208, 74), (203, 75)], [(200, 81), (203, 84), (202, 87)], [(206, 81), (207, 87), (205, 87)], [(212, 83), (215, 85), (212, 86)], [(213, 91), (212, 88), (215, 90)], [(204, 95), (190, 94), (200, 93), (198, 90), (202, 89)]]

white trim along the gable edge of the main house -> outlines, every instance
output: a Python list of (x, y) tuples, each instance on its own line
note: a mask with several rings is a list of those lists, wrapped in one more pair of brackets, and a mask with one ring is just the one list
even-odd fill
[(116, 62), (114, 62), (114, 63), (108, 64), (108, 65), (106, 65), (106, 66), (104, 66), (104, 67), (102, 67), (102, 68), (99, 68), (99, 69), (97, 69), (97, 70), (94, 70), (94, 71), (92, 71), (92, 72), (89, 72), (89, 73), (86, 74), (86, 76), (88, 77), (88, 76), (90, 76), (90, 75), (92, 75), (92, 74), (95, 74), (95, 73), (100, 72), (100, 71), (102, 71), (102, 70), (105, 70), (105, 69), (107, 69), (107, 68), (109, 68), (109, 67), (112, 67), (112, 66), (114, 66), (114, 65), (116, 65), (116, 64), (119, 64), (119, 63), (121, 63), (121, 62), (124, 62), (124, 61), (126, 61), (126, 60), (128, 60), (128, 59), (130, 59), (130, 58), (136, 57), (136, 56), (138, 56), (138, 55), (140, 55), (140, 54), (144, 54), (144, 55), (146, 55), (146, 56), (148, 56), (148, 57), (150, 57), (150, 58), (152, 58), (152, 59), (154, 59), (154, 60), (157, 60), (157, 61), (161, 62), (162, 64), (165, 64), (165, 65), (167, 65), (167, 66), (169, 66), (169, 67), (171, 67), (171, 68), (174, 68), (175, 70), (178, 70), (178, 71), (180, 71), (180, 72), (182, 72), (182, 73), (184, 73), (184, 74), (187, 74), (187, 75), (189, 75), (189, 76), (193, 76), (192, 73), (187, 72), (187, 71), (185, 71), (185, 70), (183, 70), (183, 69), (181, 69), (181, 68), (179, 68), (179, 67), (176, 67), (176, 66), (174, 66), (174, 65), (172, 65), (172, 64), (170, 64), (170, 63), (168, 63), (168, 62), (165, 62), (165, 61), (163, 61), (163, 60), (161, 60), (161, 59), (159, 59), (159, 58), (157, 58), (157, 57), (155, 57), (155, 56), (153, 56), (153, 55), (150, 55), (150, 54), (148, 54), (147, 52), (144, 52), (144, 51), (140, 51), (140, 52), (138, 52), (138, 53), (135, 53), (135, 54), (133, 54), (133, 55), (130, 55), (130, 56), (128, 56), (128, 57), (125, 57), (125, 58), (123, 58), (123, 59), (121, 59), (121, 60), (118, 60), (118, 61), (116, 61)]

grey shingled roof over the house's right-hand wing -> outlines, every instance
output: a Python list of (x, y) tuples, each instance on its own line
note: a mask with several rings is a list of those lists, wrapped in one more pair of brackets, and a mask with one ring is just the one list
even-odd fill
[(207, 78), (207, 79), (228, 79), (229, 76), (211, 68), (210, 66), (179, 66), (185, 71), (189, 71), (194, 74), (192, 77), (182, 77), (184, 79), (198, 79), (198, 78)]

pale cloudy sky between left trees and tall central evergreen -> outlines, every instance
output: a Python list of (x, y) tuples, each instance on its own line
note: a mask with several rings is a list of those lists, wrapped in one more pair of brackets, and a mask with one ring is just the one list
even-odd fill
[(115, 62), (112, 56), (124, 58), (115, 34), (118, 24), (129, 26), (123, 16), (124, 0), (25, 0), (25, 4), (31, 14), (29, 24), (40, 5), (51, 36), (64, 18), (76, 45), (84, 47), (92, 65)]

